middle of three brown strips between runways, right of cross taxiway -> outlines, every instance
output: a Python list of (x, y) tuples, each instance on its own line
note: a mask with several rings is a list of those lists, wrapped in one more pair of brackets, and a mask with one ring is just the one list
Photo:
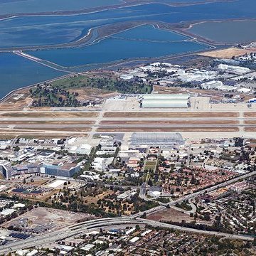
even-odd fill
[[(256, 123), (256, 121), (255, 121)], [(158, 120), (152, 120), (152, 121), (102, 121), (100, 124), (103, 125), (122, 125), (122, 124), (239, 124), (236, 120), (200, 120), (200, 121), (193, 121), (193, 120), (185, 120), (185, 121), (158, 121)]]

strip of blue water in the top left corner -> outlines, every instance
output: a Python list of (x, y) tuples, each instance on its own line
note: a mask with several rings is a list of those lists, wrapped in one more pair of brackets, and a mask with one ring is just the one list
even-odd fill
[(121, 3), (120, 0), (4, 0), (0, 1), (0, 14), (76, 11)]

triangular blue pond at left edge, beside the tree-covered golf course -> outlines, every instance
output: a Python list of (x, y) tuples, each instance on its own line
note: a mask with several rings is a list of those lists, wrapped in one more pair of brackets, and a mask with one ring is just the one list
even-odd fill
[(65, 74), (13, 53), (0, 53), (0, 98), (11, 90)]

